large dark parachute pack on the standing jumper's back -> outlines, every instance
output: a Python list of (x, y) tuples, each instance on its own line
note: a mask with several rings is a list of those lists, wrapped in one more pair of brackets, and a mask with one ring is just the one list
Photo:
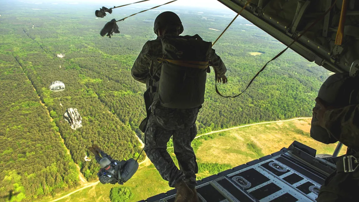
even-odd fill
[(164, 36), (158, 98), (163, 107), (191, 109), (204, 103), (212, 43), (194, 36)]

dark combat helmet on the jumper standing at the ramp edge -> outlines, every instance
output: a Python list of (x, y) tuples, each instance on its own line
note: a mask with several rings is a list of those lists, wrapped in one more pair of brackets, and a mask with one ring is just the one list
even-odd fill
[(163, 13), (160, 13), (155, 19), (155, 23), (153, 25), (153, 32), (157, 34), (157, 30), (159, 28), (172, 28), (177, 26), (180, 26), (178, 34), (181, 34), (183, 32), (183, 25), (180, 17), (178, 17), (176, 13), (173, 13), (171, 11), (165, 11)]

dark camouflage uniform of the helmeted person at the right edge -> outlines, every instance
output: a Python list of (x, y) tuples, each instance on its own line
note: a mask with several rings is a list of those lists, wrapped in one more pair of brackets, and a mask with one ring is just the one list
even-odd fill
[[(324, 119), (328, 133), (348, 146), (347, 155), (359, 158), (359, 105), (328, 110), (324, 114)], [(351, 173), (337, 171), (325, 180), (317, 202), (358, 201), (356, 196), (358, 190), (358, 170)]]

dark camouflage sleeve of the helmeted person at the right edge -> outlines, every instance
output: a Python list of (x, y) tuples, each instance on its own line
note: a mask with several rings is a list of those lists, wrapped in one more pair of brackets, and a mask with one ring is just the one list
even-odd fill
[(359, 147), (359, 105), (328, 110), (324, 114), (325, 128), (344, 145)]

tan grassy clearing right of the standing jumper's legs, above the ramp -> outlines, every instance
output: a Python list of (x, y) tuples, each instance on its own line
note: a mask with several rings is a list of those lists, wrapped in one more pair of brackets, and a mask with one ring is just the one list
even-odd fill
[[(294, 140), (316, 149), (317, 154), (332, 154), (336, 144), (326, 145), (311, 138), (310, 123), (311, 119), (299, 119), (230, 130), (201, 140), (196, 156), (203, 163), (237, 166), (288, 148)], [(340, 155), (345, 151), (343, 146)]]

